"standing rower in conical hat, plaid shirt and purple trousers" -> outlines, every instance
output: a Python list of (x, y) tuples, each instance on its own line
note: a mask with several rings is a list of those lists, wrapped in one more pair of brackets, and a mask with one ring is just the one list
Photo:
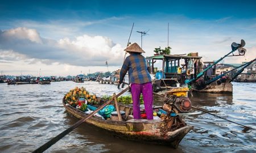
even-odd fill
[(130, 56), (126, 57), (125, 61), (123, 62), (122, 69), (119, 73), (118, 83), (121, 84), (123, 82), (123, 78), (128, 71), (129, 83), (131, 83), (130, 87), (131, 98), (133, 100), (134, 119), (141, 118), (139, 97), (142, 94), (147, 120), (153, 120), (151, 76), (147, 69), (146, 59), (141, 54), (145, 52), (136, 42), (129, 45), (125, 51), (128, 52)]

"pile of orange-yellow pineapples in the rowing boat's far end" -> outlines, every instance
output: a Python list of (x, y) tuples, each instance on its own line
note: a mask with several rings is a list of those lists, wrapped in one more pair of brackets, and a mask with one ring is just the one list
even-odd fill
[(97, 104), (97, 97), (95, 94), (90, 94), (85, 90), (84, 87), (75, 87), (65, 94), (65, 102), (73, 107), (76, 107), (79, 104), (79, 99), (84, 98), (88, 104)]

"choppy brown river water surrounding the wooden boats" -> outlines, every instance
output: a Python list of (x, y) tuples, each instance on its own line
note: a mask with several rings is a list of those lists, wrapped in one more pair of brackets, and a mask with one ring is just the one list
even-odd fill
[[(233, 83), (233, 95), (193, 94), (192, 105), (256, 129), (256, 83)], [(32, 152), (60, 134), (77, 118), (65, 111), (62, 98), (74, 87), (97, 96), (118, 93), (114, 84), (52, 82), (51, 84), (0, 84), (0, 152)], [(126, 93), (129, 94), (129, 93)], [(160, 105), (157, 101), (155, 105)], [(107, 131), (82, 124), (46, 152), (256, 152), (256, 130), (207, 113), (186, 116), (194, 126), (174, 150), (113, 137)]]

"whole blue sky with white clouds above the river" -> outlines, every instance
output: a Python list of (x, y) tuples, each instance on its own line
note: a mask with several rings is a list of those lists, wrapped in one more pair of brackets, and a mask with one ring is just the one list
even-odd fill
[[(1, 1), (0, 71), (10, 75), (77, 75), (122, 66), (127, 41), (143, 55), (168, 44), (171, 54), (199, 52), (213, 61), (246, 41), (241, 63), (256, 57), (255, 1)], [(109, 67), (105, 62), (108, 61)]]

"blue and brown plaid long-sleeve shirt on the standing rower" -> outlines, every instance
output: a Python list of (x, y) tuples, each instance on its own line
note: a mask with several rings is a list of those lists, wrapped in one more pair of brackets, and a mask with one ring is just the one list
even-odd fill
[(141, 54), (131, 54), (125, 59), (120, 71), (120, 83), (123, 82), (123, 78), (127, 71), (130, 83), (142, 84), (151, 82), (150, 73), (147, 70), (146, 59)]

